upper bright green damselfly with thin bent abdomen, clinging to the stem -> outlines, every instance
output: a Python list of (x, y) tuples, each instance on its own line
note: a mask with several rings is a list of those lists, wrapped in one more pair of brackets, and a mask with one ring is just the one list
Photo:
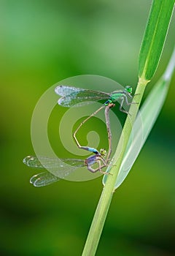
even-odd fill
[[(61, 96), (61, 98), (58, 99), (58, 104), (67, 108), (70, 108), (74, 105), (80, 107), (82, 105), (88, 105), (90, 104), (90, 102), (107, 99), (101, 106), (101, 108), (98, 108), (98, 110), (96, 110), (94, 113), (88, 116), (88, 118), (82, 121), (82, 123), (79, 124), (79, 127), (77, 127), (77, 129), (75, 130), (73, 137), (79, 148), (82, 148), (82, 146), (79, 144), (79, 141), (76, 137), (78, 130), (80, 129), (80, 127), (82, 127), (83, 124), (85, 124), (86, 121), (95, 116), (101, 109), (106, 108), (106, 106), (109, 106), (109, 108), (113, 108), (115, 105), (114, 102), (117, 102), (120, 99), (120, 111), (128, 114), (128, 111), (123, 109), (123, 103), (125, 102), (127, 105), (137, 104), (136, 102), (128, 102), (128, 97), (133, 98), (131, 96), (131, 86), (125, 86), (125, 89), (116, 90), (112, 93), (94, 91), (89, 89), (81, 89), (73, 86), (57, 86), (55, 88), (55, 93)], [(107, 129), (109, 129), (109, 125), (106, 124), (106, 127)]]

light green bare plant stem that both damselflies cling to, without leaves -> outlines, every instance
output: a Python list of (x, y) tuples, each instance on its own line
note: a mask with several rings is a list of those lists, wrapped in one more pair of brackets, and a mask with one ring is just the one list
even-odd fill
[(131, 105), (129, 114), (126, 118), (125, 125), (123, 127), (123, 132), (117, 146), (117, 151), (114, 154), (112, 168), (110, 169), (110, 173), (112, 175), (108, 176), (106, 185), (101, 193), (101, 197), (93, 217), (93, 222), (91, 224), (90, 231), (88, 233), (88, 238), (85, 243), (82, 256), (93, 256), (96, 254), (98, 241), (101, 237), (101, 233), (104, 227), (104, 222), (109, 210), (109, 206), (112, 201), (112, 196), (114, 194), (114, 184), (120, 170), (120, 165), (123, 161), (123, 156), (125, 154), (125, 149), (128, 144), (129, 137), (131, 135), (133, 122), (136, 118), (136, 114), (144, 94), (144, 89), (147, 86), (148, 82), (149, 82), (148, 80), (139, 79), (139, 83), (136, 88), (136, 96), (134, 97), (134, 102), (138, 102), (138, 104)]

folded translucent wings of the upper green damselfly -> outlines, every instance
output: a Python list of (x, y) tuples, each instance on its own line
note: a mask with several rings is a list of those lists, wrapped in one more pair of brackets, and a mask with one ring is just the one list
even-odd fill
[(110, 96), (109, 93), (103, 91), (81, 89), (71, 86), (58, 86), (55, 88), (55, 92), (62, 96), (61, 99), (58, 99), (58, 104), (68, 108), (78, 103), (78, 106), (82, 106), (87, 104), (87, 101), (108, 99)]

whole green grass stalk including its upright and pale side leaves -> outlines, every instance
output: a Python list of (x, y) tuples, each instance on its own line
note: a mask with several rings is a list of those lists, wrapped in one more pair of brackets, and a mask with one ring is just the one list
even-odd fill
[[(138, 108), (144, 94), (144, 89), (146, 88), (149, 80), (152, 78), (152, 75), (154, 75), (154, 72), (158, 66), (158, 61), (160, 59), (160, 55), (163, 50), (163, 44), (166, 39), (166, 33), (168, 31), (168, 24), (171, 20), (173, 7), (173, 0), (153, 0), (152, 10), (149, 15), (149, 22), (147, 24), (146, 33), (144, 34), (144, 40), (142, 42), (139, 56), (139, 83), (136, 87), (136, 97), (134, 97), (134, 101), (138, 102)], [(144, 140), (147, 139), (147, 135), (152, 129), (155, 119), (157, 118), (158, 113), (160, 112), (160, 108), (162, 107), (165, 100), (168, 84), (174, 70), (174, 60), (168, 67), (170, 68), (166, 72), (166, 75), (164, 75), (163, 78), (158, 82), (154, 91), (152, 91), (150, 97), (148, 97), (147, 101), (144, 103), (144, 106), (141, 108), (141, 115), (142, 117), (145, 116), (147, 120), (147, 122), (144, 122), (143, 141), (141, 146), (143, 146)], [(158, 94), (161, 94), (162, 97), (160, 97)], [(156, 110), (154, 113), (152, 113), (152, 107), (154, 106), (155, 108), (155, 105)], [(135, 161), (141, 149), (140, 146), (139, 150), (136, 151), (137, 154), (135, 157), (128, 157), (131, 155), (132, 151), (132, 143), (130, 138), (133, 124), (136, 120), (138, 108), (136, 108), (136, 105), (133, 104), (129, 110), (130, 115), (128, 115), (126, 118), (123, 132), (113, 157), (113, 165), (109, 166), (109, 170), (112, 175), (106, 175), (107, 178), (104, 177), (105, 187), (101, 193), (101, 197), (93, 217), (93, 222), (90, 226), (90, 231), (88, 233), (88, 238), (86, 240), (82, 256), (93, 256), (96, 254), (98, 241), (101, 237), (107, 212), (109, 211), (109, 206), (114, 194), (114, 189), (120, 186), (125, 177), (128, 175), (128, 171), (131, 169), (131, 166), (133, 165), (133, 162)], [(136, 125), (136, 128), (138, 128), (138, 125)], [(126, 160), (128, 161), (127, 168), (125, 167)], [(126, 171), (123, 166), (126, 168)], [(120, 176), (123, 176), (122, 178), (120, 178), (119, 173), (121, 173)]]

